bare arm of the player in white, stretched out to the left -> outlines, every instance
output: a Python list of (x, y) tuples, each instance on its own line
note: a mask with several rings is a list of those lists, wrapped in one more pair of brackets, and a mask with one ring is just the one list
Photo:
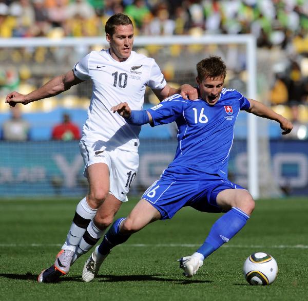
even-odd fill
[(76, 78), (74, 72), (70, 70), (61, 76), (51, 79), (44, 86), (30, 92), (27, 95), (13, 91), (7, 95), (5, 102), (11, 107), (15, 106), (16, 103), (28, 104), (36, 100), (58, 95), (81, 82), (83, 81)]

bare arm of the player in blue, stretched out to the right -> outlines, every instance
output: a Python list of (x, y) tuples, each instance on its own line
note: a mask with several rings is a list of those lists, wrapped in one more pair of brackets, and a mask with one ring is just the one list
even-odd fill
[(248, 99), (251, 104), (247, 112), (253, 113), (254, 115), (264, 117), (267, 119), (275, 120), (280, 124), (281, 129), (283, 129), (282, 135), (286, 135), (291, 132), (293, 124), (291, 121), (287, 120), (283, 116), (274, 112), (271, 108), (265, 106), (259, 101)]

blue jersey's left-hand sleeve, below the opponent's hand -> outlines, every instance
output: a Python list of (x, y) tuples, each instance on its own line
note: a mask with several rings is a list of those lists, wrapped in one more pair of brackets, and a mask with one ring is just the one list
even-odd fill
[(167, 98), (160, 104), (147, 109), (152, 116), (153, 126), (171, 123), (183, 114), (187, 103), (180, 95), (178, 95), (178, 97), (180, 99), (169, 100)]

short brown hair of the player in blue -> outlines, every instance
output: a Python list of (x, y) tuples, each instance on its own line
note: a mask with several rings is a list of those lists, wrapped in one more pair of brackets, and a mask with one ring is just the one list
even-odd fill
[(197, 73), (200, 81), (206, 78), (215, 79), (220, 76), (223, 76), (223, 79), (225, 79), (227, 67), (222, 58), (209, 57), (197, 64)]

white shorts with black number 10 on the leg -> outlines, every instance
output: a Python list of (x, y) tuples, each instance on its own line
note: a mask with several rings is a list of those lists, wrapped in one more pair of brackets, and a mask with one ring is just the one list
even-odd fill
[(121, 202), (128, 201), (127, 193), (137, 175), (139, 155), (137, 152), (118, 148), (106, 150), (97, 149), (95, 143), (81, 141), (80, 152), (85, 163), (84, 176), (87, 177), (87, 167), (94, 163), (105, 163), (109, 167), (109, 192)]

